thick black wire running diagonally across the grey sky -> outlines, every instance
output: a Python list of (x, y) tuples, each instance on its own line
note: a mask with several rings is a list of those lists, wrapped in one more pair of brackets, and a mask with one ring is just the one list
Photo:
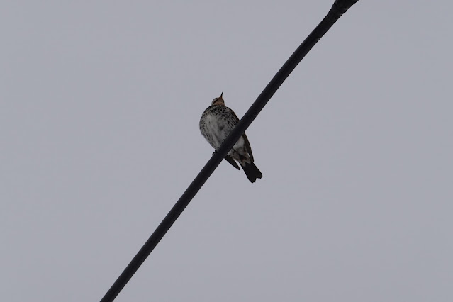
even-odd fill
[(291, 55), (291, 57), (289, 57), (286, 63), (281, 67), (279, 72), (276, 73), (271, 82), (269, 82), (266, 88), (264, 88), (262, 93), (259, 94), (256, 101), (252, 104), (252, 106), (250, 106), (250, 109), (245, 113), (240, 122), (237, 123), (230, 135), (228, 135), (228, 138), (225, 139), (217, 152), (213, 154), (211, 159), (205, 164), (203, 169), (201, 169), (201, 172), (195, 177), (194, 181), (192, 181), (190, 186), (186, 189), (186, 191), (184, 191), (184, 194), (182, 194), (177, 203), (173, 206), (172, 210), (169, 211), (154, 233), (152, 233), (150, 239), (145, 242), (145, 245), (143, 245), (141, 250), (137, 253), (137, 255), (135, 255), (128, 267), (126, 267), (124, 272), (118, 277), (118, 279), (116, 279), (115, 283), (113, 283), (111, 288), (107, 291), (104, 298), (101, 299), (101, 302), (111, 302), (116, 298), (116, 296), (118, 296), (118, 293), (120, 293), (125, 284), (128, 283), (133, 274), (137, 272), (140, 265), (145, 262), (145, 259), (150, 255), (157, 243), (159, 243), (162, 237), (164, 237), (165, 233), (167, 233), (174, 221), (177, 220), (179, 215), (181, 215), (184, 208), (189, 205), (192, 198), (194, 198), (195, 194), (201, 189), (201, 186), (203, 186), (206, 180), (211, 176), (220, 162), (222, 162), (225, 155), (227, 155), (228, 151), (231, 150), (235, 142), (237, 142), (240, 136), (250, 126), (252, 121), (255, 120), (259, 111), (264, 108), (269, 99), (271, 99), (277, 89), (279, 89), (289, 74), (291, 74), (293, 69), (296, 68), (303, 57), (305, 57), (311, 48), (318, 43), (318, 40), (323, 37), (323, 35), (330, 29), (330, 27), (332, 27), (338, 18), (340, 18), (340, 16), (342, 16), (342, 14), (357, 1), (359, 0), (335, 1), (332, 5), (332, 9), (330, 9), (323, 21), (321, 21), (311, 32), (311, 34), (308, 35), (293, 55)]

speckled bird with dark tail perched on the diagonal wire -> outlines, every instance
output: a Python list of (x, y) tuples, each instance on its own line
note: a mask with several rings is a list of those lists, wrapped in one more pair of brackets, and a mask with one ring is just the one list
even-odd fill
[[(223, 100), (223, 92), (218, 98), (213, 99), (211, 106), (203, 111), (200, 118), (200, 131), (204, 138), (217, 152), (222, 142), (231, 133), (235, 125), (239, 123), (236, 113), (225, 106)], [(254, 183), (257, 179), (263, 177), (257, 166), (255, 166), (252, 148), (247, 135), (242, 136), (237, 140), (233, 148), (226, 155), (225, 160), (236, 169), (240, 169), (235, 160), (239, 162), (242, 170), (244, 170), (247, 179)]]

